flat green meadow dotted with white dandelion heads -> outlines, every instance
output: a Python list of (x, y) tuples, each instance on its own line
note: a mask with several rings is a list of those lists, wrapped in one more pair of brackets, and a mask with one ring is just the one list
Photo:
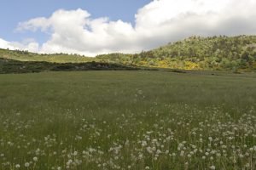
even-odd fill
[(256, 74), (0, 75), (0, 169), (256, 169)]

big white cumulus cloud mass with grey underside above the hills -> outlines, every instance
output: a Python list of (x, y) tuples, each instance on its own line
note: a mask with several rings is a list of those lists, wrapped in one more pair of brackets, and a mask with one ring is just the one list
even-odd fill
[[(106, 17), (94, 19), (79, 8), (22, 22), (16, 31), (50, 33), (40, 47), (37, 42), (20, 46), (40, 53), (136, 53), (192, 35), (255, 34), (255, 8), (255, 0), (154, 0), (137, 11), (135, 26)], [(2, 43), (9, 44), (0, 41), (0, 47)]]

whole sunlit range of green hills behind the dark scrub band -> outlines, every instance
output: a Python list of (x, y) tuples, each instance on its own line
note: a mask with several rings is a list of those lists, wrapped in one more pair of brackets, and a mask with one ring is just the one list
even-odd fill
[(140, 54), (33, 54), (0, 49), (0, 57), (56, 63), (104, 62), (182, 70), (256, 70), (256, 36), (189, 37)]

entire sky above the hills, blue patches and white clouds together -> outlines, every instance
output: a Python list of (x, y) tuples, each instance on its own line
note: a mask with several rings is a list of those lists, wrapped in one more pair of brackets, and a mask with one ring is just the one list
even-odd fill
[(256, 34), (256, 0), (1, 0), (0, 48), (96, 56)]

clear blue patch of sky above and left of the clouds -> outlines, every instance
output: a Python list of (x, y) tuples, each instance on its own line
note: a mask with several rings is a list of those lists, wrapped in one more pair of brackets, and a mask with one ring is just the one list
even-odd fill
[(0, 37), (8, 41), (22, 41), (33, 37), (38, 42), (47, 41), (49, 35), (40, 31), (15, 32), (19, 22), (36, 17), (49, 17), (57, 9), (82, 8), (92, 18), (106, 17), (123, 20), (134, 25), (134, 14), (150, 0), (2, 0), (0, 5)]

